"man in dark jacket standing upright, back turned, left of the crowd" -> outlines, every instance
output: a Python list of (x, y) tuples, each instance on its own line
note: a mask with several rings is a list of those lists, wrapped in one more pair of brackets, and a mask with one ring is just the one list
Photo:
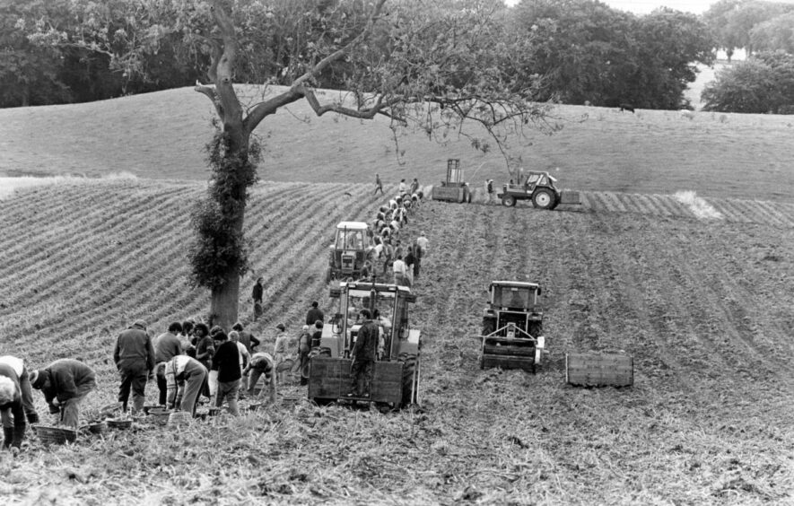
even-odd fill
[(127, 401), (132, 390), (132, 413), (144, 411), (146, 401), (146, 382), (156, 365), (152, 338), (146, 332), (146, 322), (135, 320), (127, 330), (118, 335), (116, 348), (113, 350), (113, 362), (121, 376), (118, 388), (118, 402), (127, 412)]

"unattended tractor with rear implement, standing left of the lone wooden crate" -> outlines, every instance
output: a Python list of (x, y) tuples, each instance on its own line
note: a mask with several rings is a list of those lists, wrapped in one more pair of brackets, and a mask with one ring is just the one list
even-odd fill
[(480, 369), (501, 367), (537, 372), (543, 361), (543, 308), (540, 286), (519, 281), (493, 281), (484, 310)]

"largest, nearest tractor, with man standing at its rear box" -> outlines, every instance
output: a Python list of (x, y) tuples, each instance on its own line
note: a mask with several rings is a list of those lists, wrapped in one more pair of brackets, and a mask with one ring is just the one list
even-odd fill
[[(374, 402), (381, 409), (419, 404), (420, 332), (408, 326), (408, 304), (416, 296), (406, 286), (343, 282), (331, 288), (339, 310), (323, 327), (320, 343), (310, 352), (309, 398), (318, 404), (340, 399)], [(350, 352), (362, 326), (359, 313), (369, 309), (380, 327), (378, 356), (369, 397), (350, 397)]]

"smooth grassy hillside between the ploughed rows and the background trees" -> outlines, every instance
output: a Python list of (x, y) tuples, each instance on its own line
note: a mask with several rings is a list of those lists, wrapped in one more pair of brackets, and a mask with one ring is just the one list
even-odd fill
[[(677, 111), (577, 106), (560, 106), (554, 115), (562, 132), (514, 139), (510, 153), (527, 170), (550, 170), (565, 188), (794, 201), (794, 117), (697, 113), (688, 119)], [(211, 118), (209, 101), (189, 88), (0, 110), (0, 175), (128, 172), (205, 180)], [(259, 168), (265, 180), (352, 184), (374, 181), (380, 172), (394, 183), (417, 177), (437, 184), (448, 158), (461, 160), (476, 187), (484, 179), (497, 186), (508, 179), (500, 156), (476, 152), (465, 139), (439, 144), (407, 135), (399, 139), (398, 156), (383, 120), (316, 118), (302, 102), (268, 118), (257, 135), (265, 148)]]

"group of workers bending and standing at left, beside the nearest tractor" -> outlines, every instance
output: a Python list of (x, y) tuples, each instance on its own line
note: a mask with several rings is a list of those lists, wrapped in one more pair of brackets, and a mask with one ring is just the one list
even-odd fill
[[(227, 333), (221, 327), (188, 320), (173, 322), (168, 330), (152, 338), (143, 319), (122, 331), (116, 340), (113, 360), (119, 374), (119, 408), (130, 414), (143, 414), (145, 388), (154, 379), (159, 390), (158, 404), (196, 414), (202, 396), (229, 412), (239, 414), (240, 396), (254, 396), (259, 379), (262, 392), (275, 401), (277, 370), (288, 359), (299, 360), (301, 371), (308, 365), (309, 351), (318, 346), (324, 321), (318, 302), (312, 302), (306, 325), (297, 339), (288, 336), (278, 324), (274, 353), (257, 351), (260, 341), (240, 323)], [(297, 343), (300, 343), (298, 345)], [(301, 379), (306, 384), (306, 379)], [(77, 429), (80, 405), (97, 387), (96, 373), (74, 359), (60, 359), (47, 367), (29, 371), (18, 357), (0, 357), (0, 417), (5, 448), (19, 449), (28, 423), (39, 423), (33, 403), (33, 389), (41, 390), (53, 422)], [(130, 397), (132, 405), (128, 406)]]

